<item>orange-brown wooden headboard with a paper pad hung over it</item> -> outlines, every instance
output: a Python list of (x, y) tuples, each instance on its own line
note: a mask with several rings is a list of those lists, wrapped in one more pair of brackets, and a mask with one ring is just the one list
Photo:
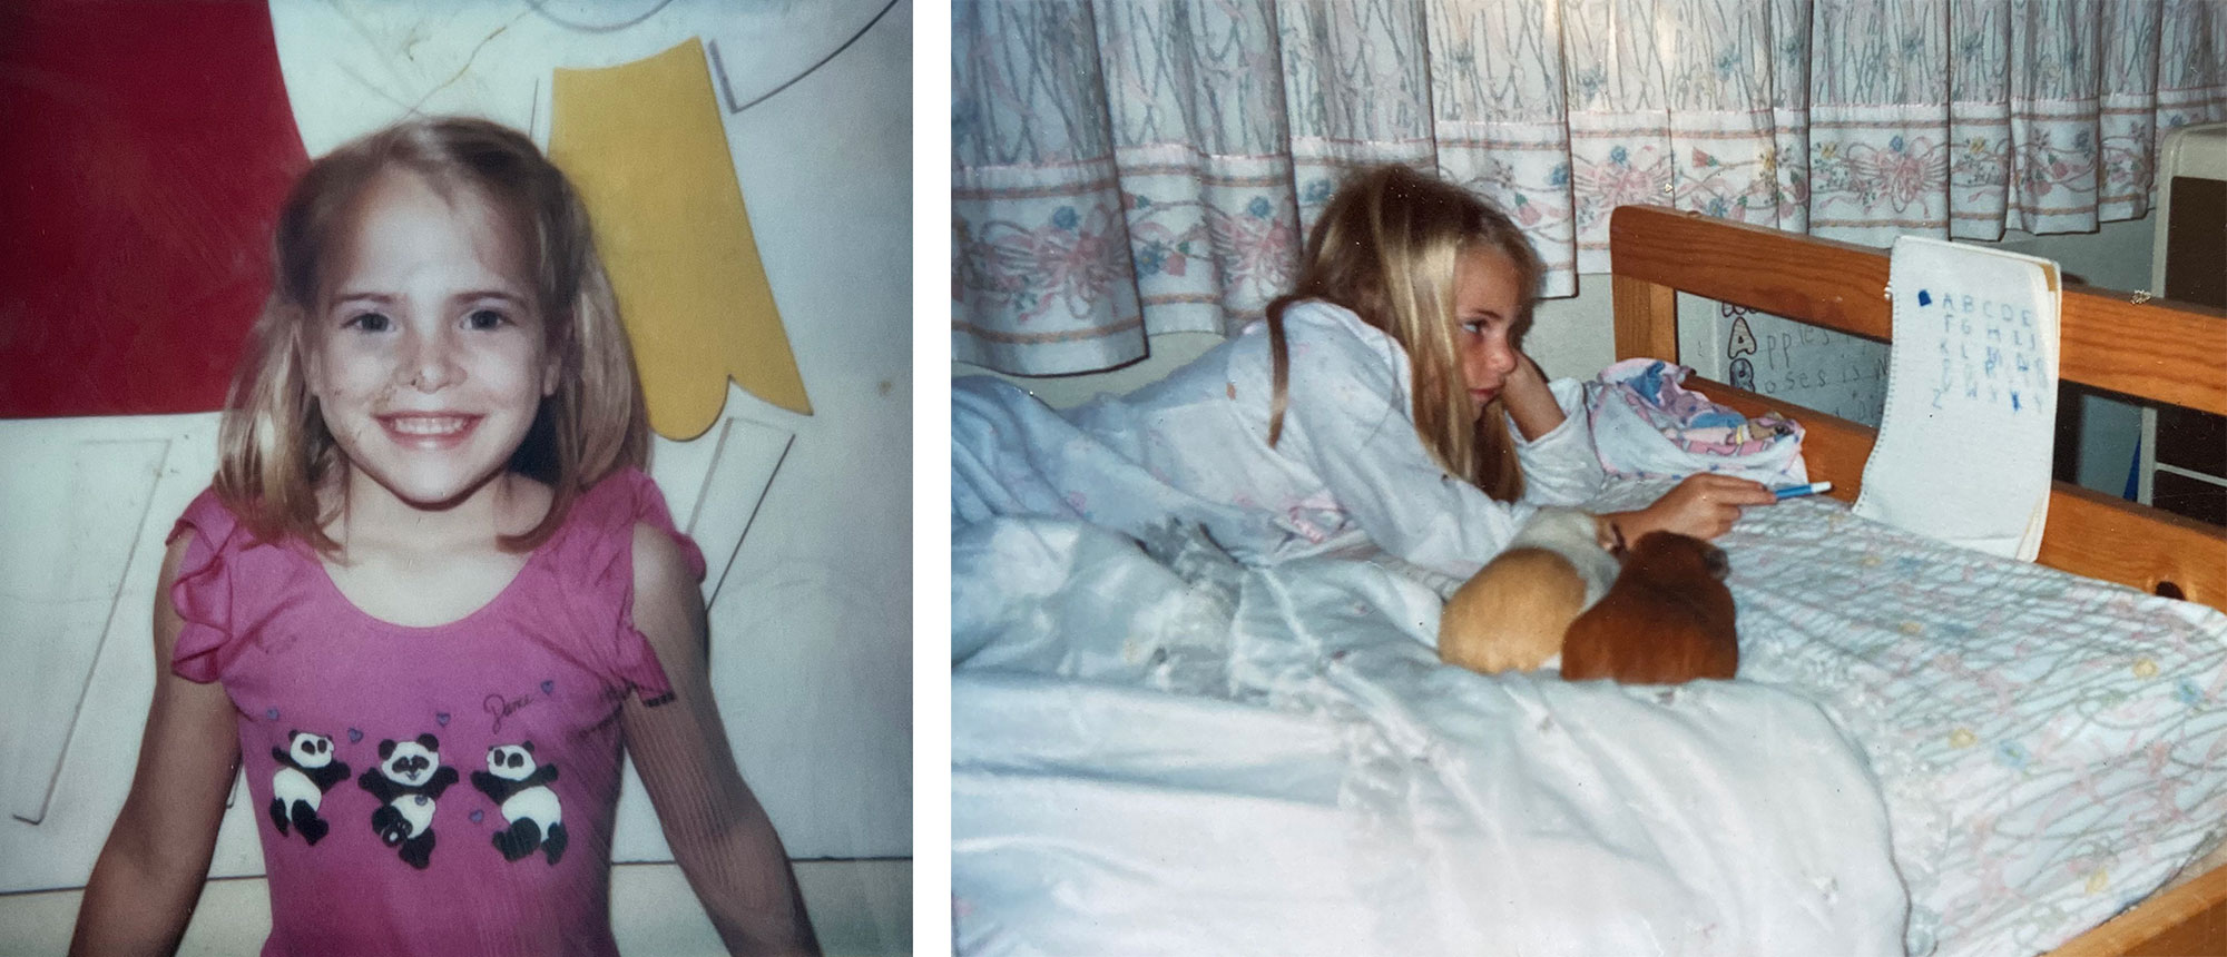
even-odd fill
[[(1617, 358), (1677, 354), (1677, 294), (1770, 312), (1886, 343), (1886, 251), (1659, 207), (1619, 207), (1608, 225)], [(2227, 414), (2227, 312), (2064, 287), (2060, 378)], [(2142, 303), (2138, 303), (2142, 300)], [(1804, 427), (1811, 478), (1855, 501), (1875, 430), (1701, 376), (1690, 387), (1748, 416)], [(2227, 610), (2227, 527), (2071, 483), (2056, 483), (2042, 565)]]

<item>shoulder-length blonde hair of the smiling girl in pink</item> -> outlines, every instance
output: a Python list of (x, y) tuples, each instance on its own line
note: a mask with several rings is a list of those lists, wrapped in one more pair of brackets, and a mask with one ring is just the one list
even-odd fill
[(534, 307), (559, 381), (510, 470), (548, 483), (555, 496), (539, 525), (501, 539), (506, 550), (532, 550), (583, 490), (648, 461), (648, 412), (588, 211), (532, 140), (488, 120), (405, 120), (334, 149), (294, 182), (278, 207), (272, 294), (218, 430), (216, 496), (256, 539), (339, 550), (325, 534), (339, 505), (321, 505), (318, 490), (345, 478), (347, 461), (310, 394), (305, 323), (327, 294), (327, 258), (345, 249), (365, 187), (387, 171), (414, 174), (450, 203), (483, 203), (532, 256)]

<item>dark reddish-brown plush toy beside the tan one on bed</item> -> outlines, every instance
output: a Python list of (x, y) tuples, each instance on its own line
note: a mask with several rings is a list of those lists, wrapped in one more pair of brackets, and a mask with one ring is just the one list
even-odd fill
[(1648, 532), (1608, 594), (1563, 632), (1561, 677), (1666, 685), (1739, 670), (1733, 592), (1717, 545)]

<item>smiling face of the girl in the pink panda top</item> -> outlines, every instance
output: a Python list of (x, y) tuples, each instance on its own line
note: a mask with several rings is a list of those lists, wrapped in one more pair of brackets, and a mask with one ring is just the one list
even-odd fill
[(350, 492), (452, 505), (501, 474), (557, 389), (532, 272), (468, 191), (381, 174), (336, 245), (303, 336)]

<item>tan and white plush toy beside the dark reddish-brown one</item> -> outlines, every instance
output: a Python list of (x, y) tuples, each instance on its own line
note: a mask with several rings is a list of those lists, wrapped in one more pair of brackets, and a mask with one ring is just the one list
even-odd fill
[(1439, 661), (1483, 674), (1552, 663), (1561, 632), (1617, 579), (1608, 545), (1590, 514), (1539, 510), (1445, 601)]

